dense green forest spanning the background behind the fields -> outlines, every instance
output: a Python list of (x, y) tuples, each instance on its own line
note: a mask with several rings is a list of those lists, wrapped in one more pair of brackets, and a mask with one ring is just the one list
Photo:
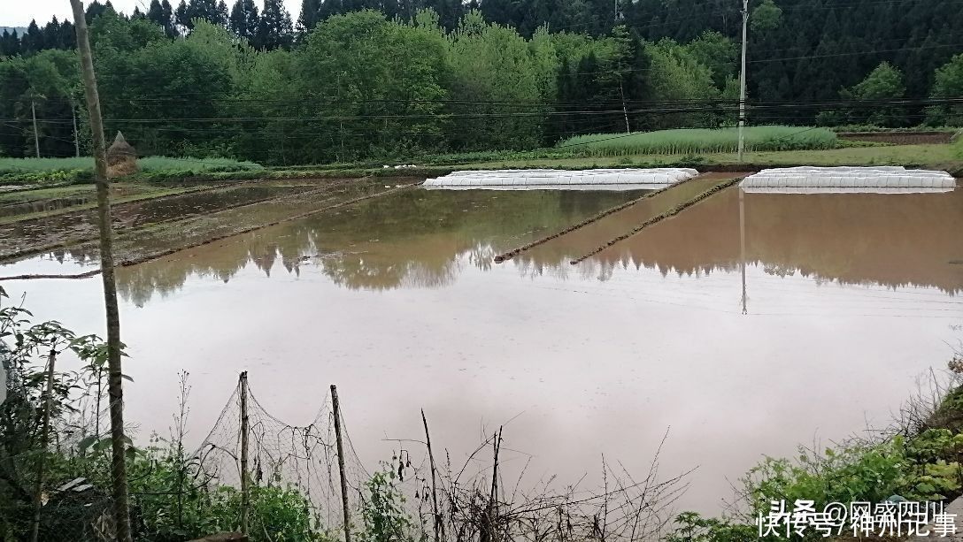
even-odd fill
[[(741, 4), (94, 1), (87, 18), (109, 134), (295, 165), (732, 126)], [(752, 0), (748, 21), (750, 124), (963, 124), (963, 1)], [(0, 35), (0, 156), (87, 154), (83, 107), (69, 21)]]

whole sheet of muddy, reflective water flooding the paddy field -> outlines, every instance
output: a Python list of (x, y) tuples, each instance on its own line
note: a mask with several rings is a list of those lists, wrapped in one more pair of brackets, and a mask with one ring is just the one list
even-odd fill
[[(195, 440), (242, 370), (291, 424), (337, 383), (368, 465), (397, 450), (384, 439), (420, 438), (424, 408), (454, 462), (507, 424), (508, 464), (530, 453), (527, 477), (565, 483), (603, 453), (647, 471), (669, 428), (660, 472), (698, 467), (678, 506), (712, 513), (764, 454), (887, 425), (963, 339), (963, 191), (745, 194), (741, 209), (730, 189), (568, 264), (686, 194), (666, 195), (503, 264), (638, 194), (411, 190), (121, 269), (128, 419), (166, 432), (179, 369)], [(61, 259), (0, 271), (88, 269)], [(97, 277), (4, 287), (102, 332)]]

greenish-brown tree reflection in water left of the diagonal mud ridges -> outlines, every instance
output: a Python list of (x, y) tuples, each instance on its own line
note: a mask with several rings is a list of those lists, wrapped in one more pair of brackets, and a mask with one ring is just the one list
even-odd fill
[(337, 213), (286, 222), (178, 252), (118, 273), (121, 295), (143, 305), (188, 277), (225, 282), (248, 263), (270, 276), (279, 257), (299, 273), (305, 256), (352, 289), (439, 287), (462, 265), (490, 269), (508, 249), (624, 201), (629, 194), (408, 191)]

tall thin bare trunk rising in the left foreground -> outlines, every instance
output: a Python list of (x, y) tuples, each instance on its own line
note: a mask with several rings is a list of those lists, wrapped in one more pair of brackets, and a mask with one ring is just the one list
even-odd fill
[(117, 282), (114, 276), (114, 240), (111, 224), (111, 201), (107, 181), (107, 151), (104, 125), (100, 116), (100, 97), (93, 75), (91, 42), (87, 19), (80, 0), (70, 0), (73, 23), (77, 29), (77, 49), (84, 77), (84, 95), (91, 114), (93, 162), (97, 183), (97, 225), (100, 229), (100, 276), (104, 283), (104, 307), (107, 312), (107, 395), (111, 409), (111, 470), (114, 493), (114, 523), (118, 542), (131, 542), (130, 503), (127, 495), (127, 465), (124, 462), (126, 437), (123, 431), (123, 377), (120, 368), (120, 314), (117, 308)]

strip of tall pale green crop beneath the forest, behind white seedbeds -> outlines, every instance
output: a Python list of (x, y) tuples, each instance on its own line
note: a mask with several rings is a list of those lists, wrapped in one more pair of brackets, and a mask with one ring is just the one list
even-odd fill
[[(807, 150), (836, 147), (836, 134), (828, 128), (798, 126), (752, 126), (743, 134), (747, 151)], [(704, 154), (735, 152), (739, 147), (736, 128), (662, 130), (631, 135), (595, 134), (560, 142), (559, 150), (586, 156), (627, 154)]]

